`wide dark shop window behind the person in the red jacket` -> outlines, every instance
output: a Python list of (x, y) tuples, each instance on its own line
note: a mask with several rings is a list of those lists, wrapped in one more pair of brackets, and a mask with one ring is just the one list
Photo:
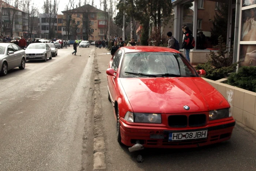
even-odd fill
[[(207, 9), (197, 10), (196, 50), (217, 50), (218, 38), (222, 36), (223, 42), (227, 43), (227, 25), (229, 18), (229, 4), (218, 3), (210, 0), (199, 0)], [(218, 6), (217, 10), (215, 7)], [(211, 8), (214, 7), (214, 8)]]

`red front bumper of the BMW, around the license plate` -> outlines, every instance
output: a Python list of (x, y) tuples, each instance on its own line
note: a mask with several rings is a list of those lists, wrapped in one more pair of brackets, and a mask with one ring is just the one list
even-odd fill
[[(207, 128), (187, 129), (188, 132), (208, 129), (207, 138), (169, 142), (168, 133), (179, 132), (179, 130), (154, 127), (145, 129), (142, 126), (134, 128), (134, 126), (127, 125), (120, 119), (120, 133), (122, 143), (129, 147), (135, 145), (136, 140), (140, 140), (140, 144), (146, 148), (194, 148), (229, 140), (235, 124), (236, 121), (231, 120), (224, 123), (209, 124)], [(184, 132), (184, 129), (180, 129), (180, 132)], [(150, 138), (150, 135), (159, 135), (159, 139)], [(164, 138), (161, 139), (160, 135), (164, 136)]]

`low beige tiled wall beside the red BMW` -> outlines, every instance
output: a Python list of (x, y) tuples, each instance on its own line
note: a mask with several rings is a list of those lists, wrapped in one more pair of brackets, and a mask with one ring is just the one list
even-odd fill
[(231, 112), (236, 121), (243, 123), (251, 129), (256, 130), (256, 93), (242, 88), (229, 86), (205, 79), (215, 87), (229, 102)]

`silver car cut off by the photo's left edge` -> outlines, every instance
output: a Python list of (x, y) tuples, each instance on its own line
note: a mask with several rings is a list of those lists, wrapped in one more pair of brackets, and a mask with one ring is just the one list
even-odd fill
[(1, 75), (7, 75), (12, 68), (25, 69), (26, 53), (13, 43), (0, 43)]

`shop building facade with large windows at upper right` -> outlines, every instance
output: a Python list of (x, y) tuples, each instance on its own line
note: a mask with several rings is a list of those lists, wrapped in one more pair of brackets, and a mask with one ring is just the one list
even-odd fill
[[(196, 41), (191, 62), (206, 62), (206, 54), (218, 44), (218, 37), (229, 49), (233, 62), (256, 66), (256, 0), (172, 0), (174, 37), (183, 41), (182, 25), (189, 26)], [(237, 25), (237, 27), (236, 27)]]

